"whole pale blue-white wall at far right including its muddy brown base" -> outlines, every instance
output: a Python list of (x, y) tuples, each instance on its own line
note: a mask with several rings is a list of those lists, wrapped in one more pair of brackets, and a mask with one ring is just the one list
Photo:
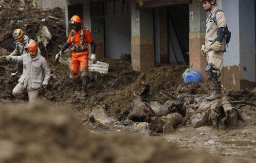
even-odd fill
[(254, 0), (222, 0), (222, 9), (231, 31), (223, 59), (223, 86), (228, 90), (255, 87)]

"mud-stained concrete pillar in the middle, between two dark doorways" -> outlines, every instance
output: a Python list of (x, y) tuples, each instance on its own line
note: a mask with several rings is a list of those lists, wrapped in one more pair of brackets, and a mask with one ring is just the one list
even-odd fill
[(153, 9), (136, 10), (131, 0), (131, 65), (135, 71), (154, 67)]

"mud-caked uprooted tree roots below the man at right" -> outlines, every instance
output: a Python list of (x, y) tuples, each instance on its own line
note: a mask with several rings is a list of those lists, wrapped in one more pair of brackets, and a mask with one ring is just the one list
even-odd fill
[[(166, 92), (163, 94), (170, 95)], [(145, 103), (137, 98), (133, 101), (133, 110), (129, 117), (148, 122), (149, 130), (157, 133), (170, 133), (175, 127), (182, 125), (192, 125), (194, 128), (212, 126), (216, 129), (225, 129), (236, 127), (239, 122), (245, 122), (239, 111), (232, 106), (229, 98), (206, 101), (205, 96), (185, 94), (177, 98), (170, 96), (170, 99), (176, 100), (165, 105), (156, 101)]]

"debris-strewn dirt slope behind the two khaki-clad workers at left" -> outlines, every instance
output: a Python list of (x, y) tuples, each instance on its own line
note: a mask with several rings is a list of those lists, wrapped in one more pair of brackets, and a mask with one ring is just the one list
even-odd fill
[[(0, 0), (0, 47), (13, 51), (12, 33), (15, 29), (22, 29), (24, 34), (37, 40), (37, 33), (42, 26), (48, 27), (52, 39), (48, 45), (49, 56), (55, 56), (58, 46), (67, 39), (65, 12), (61, 8), (42, 9), (36, 0)], [(47, 58), (46, 50), (39, 43), (42, 55)]]

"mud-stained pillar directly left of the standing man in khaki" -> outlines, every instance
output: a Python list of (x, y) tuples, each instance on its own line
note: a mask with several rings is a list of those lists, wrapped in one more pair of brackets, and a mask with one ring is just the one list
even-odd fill
[(201, 55), (201, 45), (205, 38), (205, 21), (206, 11), (198, 0), (192, 0), (189, 4), (189, 66), (191, 70), (199, 70), (202, 75), (202, 80), (207, 81), (205, 68), (207, 66), (206, 58)]

